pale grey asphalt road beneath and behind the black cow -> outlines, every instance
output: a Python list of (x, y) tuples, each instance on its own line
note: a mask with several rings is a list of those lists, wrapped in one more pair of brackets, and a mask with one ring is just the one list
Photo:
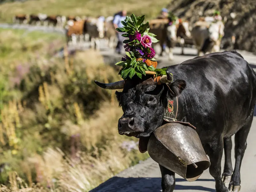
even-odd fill
[[(107, 55), (109, 51), (102, 51), (103, 55)], [(194, 58), (196, 50), (192, 48), (185, 48), (184, 54), (180, 55), (181, 49), (179, 47), (174, 49), (174, 60), (169, 61), (167, 57), (160, 57), (158, 67), (174, 65), (185, 60)], [(256, 55), (245, 51), (240, 52), (248, 63), (256, 67)], [(115, 55), (114, 53), (112, 53)], [(117, 58), (120, 56), (115, 55)], [(255, 69), (254, 69), (255, 70)], [(241, 167), (241, 192), (256, 192), (256, 181), (254, 174), (256, 173), (256, 117), (254, 117), (251, 131), (247, 139), (247, 149), (244, 154), (244, 159)], [(234, 136), (232, 149), (232, 164), (235, 166), (234, 155)], [(222, 170), (224, 166), (224, 156), (222, 158)], [(228, 187), (228, 183), (226, 183)], [(161, 188), (161, 172), (159, 166), (151, 158), (140, 164), (130, 167), (123, 172), (117, 174), (115, 177), (109, 179), (101, 184), (91, 192), (160, 192)], [(188, 182), (176, 174), (175, 192), (214, 192), (215, 181), (209, 173), (209, 169), (205, 170), (201, 177), (194, 181)]]

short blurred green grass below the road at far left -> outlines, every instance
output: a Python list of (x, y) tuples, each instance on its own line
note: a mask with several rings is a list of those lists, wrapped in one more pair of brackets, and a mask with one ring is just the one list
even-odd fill
[[(47, 58), (64, 44), (60, 34), (47, 34), (20, 29), (0, 29), (0, 70), (5, 74), (18, 65), (28, 65), (38, 58)], [(47, 50), (47, 51), (45, 51)]]

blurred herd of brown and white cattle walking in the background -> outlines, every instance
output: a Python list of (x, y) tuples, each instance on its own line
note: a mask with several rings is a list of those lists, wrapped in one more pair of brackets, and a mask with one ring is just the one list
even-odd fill
[[(101, 17), (78, 17), (46, 14), (19, 14), (13, 17), (14, 23), (29, 25), (55, 26), (66, 29), (68, 45), (83, 45), (90, 42), (90, 47), (100, 49), (100, 39), (111, 49), (117, 44), (116, 30), (113, 25), (113, 16), (102, 20)], [(198, 55), (208, 52), (219, 52), (221, 37), (224, 36), (223, 21), (214, 21), (213, 17), (201, 17), (193, 26), (188, 21), (178, 19), (175, 24), (169, 25), (168, 19), (154, 19), (149, 21), (150, 32), (156, 35), (160, 44), (160, 55), (167, 52), (169, 59), (173, 59), (173, 47), (179, 44), (183, 48), (185, 45), (196, 46)], [(202, 52), (204, 41), (210, 39), (211, 44)], [(235, 39), (232, 36), (232, 43)], [(164, 48), (164, 44), (166, 47)], [(155, 47), (156, 48), (156, 47)], [(157, 56), (157, 55), (156, 55)]]

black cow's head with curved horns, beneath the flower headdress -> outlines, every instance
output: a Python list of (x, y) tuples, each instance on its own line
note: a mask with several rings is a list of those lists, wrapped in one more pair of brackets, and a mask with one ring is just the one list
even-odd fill
[(156, 84), (148, 75), (142, 80), (133, 77), (132, 80), (103, 84), (95, 81), (105, 89), (123, 89), (116, 91), (116, 98), (123, 109), (123, 116), (118, 121), (118, 132), (121, 135), (148, 137), (156, 128), (161, 126), (164, 118), (164, 98), (169, 94), (171, 98), (178, 96), (186, 87), (183, 80), (176, 80), (169, 84), (172, 76), (161, 77), (161, 84)]

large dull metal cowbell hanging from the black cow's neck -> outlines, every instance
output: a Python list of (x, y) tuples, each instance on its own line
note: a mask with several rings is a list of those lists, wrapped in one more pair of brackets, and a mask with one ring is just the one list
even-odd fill
[(148, 154), (188, 181), (197, 180), (211, 165), (198, 134), (188, 123), (170, 122), (158, 127), (148, 141)]

